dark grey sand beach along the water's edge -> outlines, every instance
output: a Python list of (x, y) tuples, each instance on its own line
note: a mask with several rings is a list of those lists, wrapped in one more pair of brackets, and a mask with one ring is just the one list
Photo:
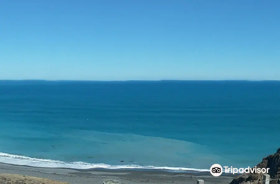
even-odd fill
[[(116, 170), (75, 170), (75, 169), (64, 169), (64, 168), (36, 168), (28, 166), (18, 166), (0, 163), (0, 184), (7, 183), (8, 178), (10, 183), (50, 183), (58, 184), (57, 182), (50, 181), (60, 181), (68, 182), (72, 184), (88, 184), (88, 183), (100, 183), (107, 179), (119, 180), (124, 184), (133, 183), (187, 183), (196, 184), (198, 179), (203, 179), (205, 184), (228, 184), (232, 181), (235, 176), (219, 176), (213, 177), (210, 173), (168, 173), (166, 171), (116, 171)], [(13, 174), (13, 175), (11, 175)], [(14, 175), (14, 174), (19, 174)], [(24, 175), (24, 176), (22, 176)], [(46, 179), (38, 178), (28, 178), (29, 177), (40, 177)], [(4, 182), (3, 180), (6, 180)], [(21, 181), (21, 182), (15, 182)], [(28, 182), (24, 182), (28, 181)]]

